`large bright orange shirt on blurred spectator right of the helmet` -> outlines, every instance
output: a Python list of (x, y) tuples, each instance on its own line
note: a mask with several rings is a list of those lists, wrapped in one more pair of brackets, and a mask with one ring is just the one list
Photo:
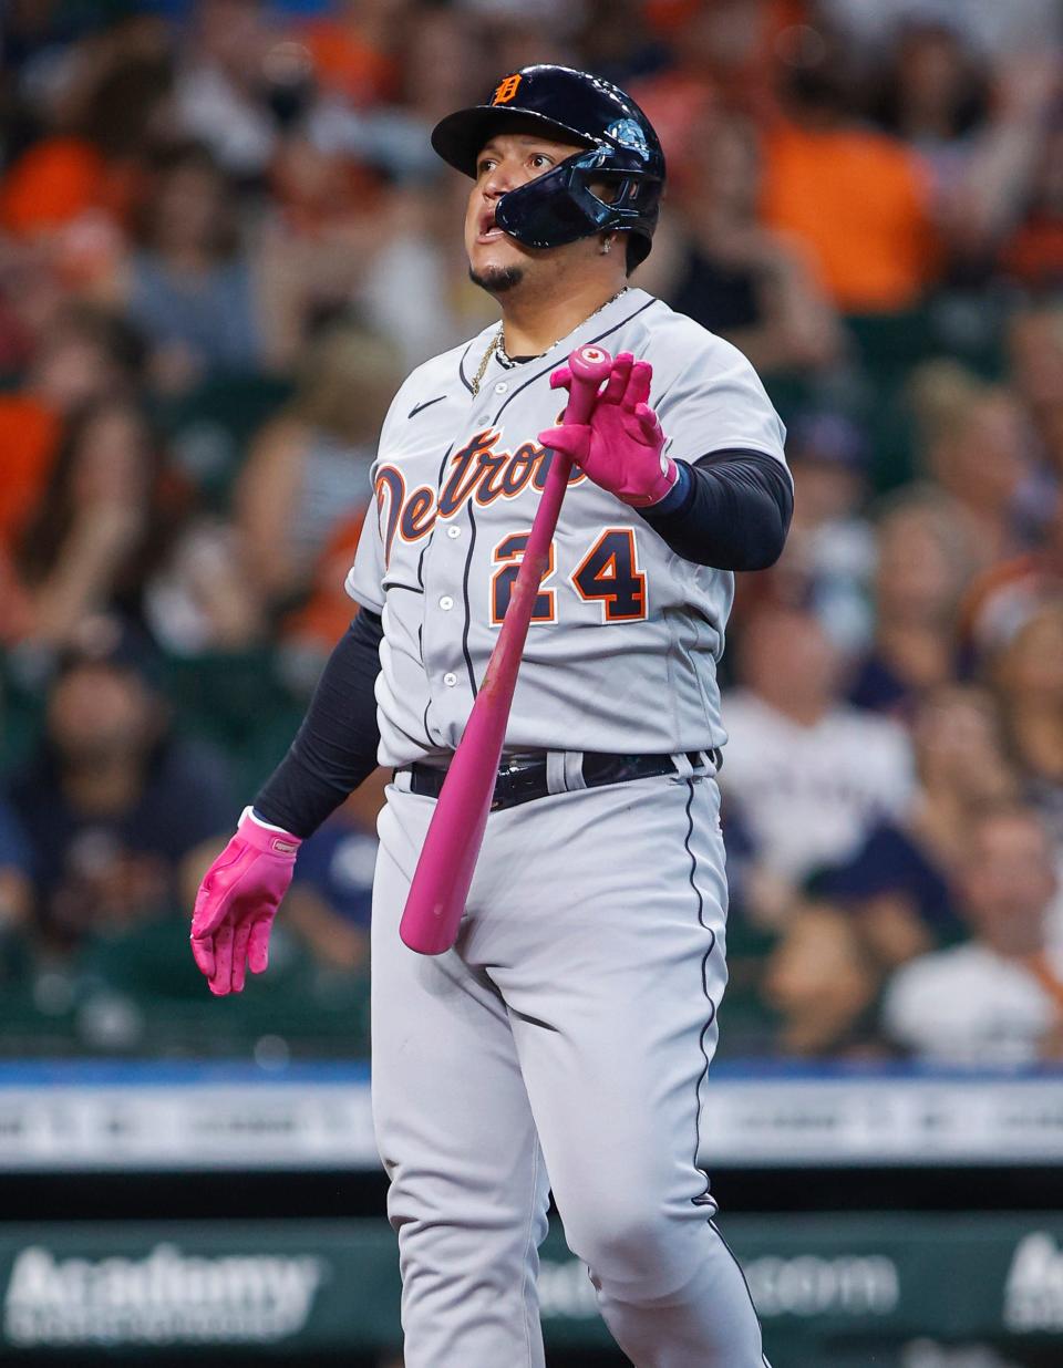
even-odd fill
[(780, 120), (765, 137), (762, 212), (809, 246), (843, 313), (911, 308), (936, 278), (929, 182), (899, 142)]

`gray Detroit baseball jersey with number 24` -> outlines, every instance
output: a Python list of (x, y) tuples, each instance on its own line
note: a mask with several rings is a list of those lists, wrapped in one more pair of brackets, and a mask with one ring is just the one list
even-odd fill
[[(601, 342), (653, 364), (668, 453), (784, 461), (784, 430), (728, 342), (628, 289), (550, 352), (491, 357), (497, 328), (419, 367), (384, 420), (347, 592), (383, 614), (383, 765), (451, 751), (505, 614), (564, 408), (550, 373)], [(640, 514), (573, 472), (535, 605), (506, 732), (512, 750), (674, 754), (724, 743), (717, 661), (733, 576), (681, 560)]]

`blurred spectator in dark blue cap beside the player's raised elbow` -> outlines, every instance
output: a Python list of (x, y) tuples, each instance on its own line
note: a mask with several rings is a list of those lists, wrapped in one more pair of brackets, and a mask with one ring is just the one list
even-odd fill
[(867, 495), (867, 443), (840, 413), (799, 415), (787, 435), (793, 520), (774, 572), (778, 595), (803, 603), (845, 654), (866, 648), (874, 529), (861, 510)]

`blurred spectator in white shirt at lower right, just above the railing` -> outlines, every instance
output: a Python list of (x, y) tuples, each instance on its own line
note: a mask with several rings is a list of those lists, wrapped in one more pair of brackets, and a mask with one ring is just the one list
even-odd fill
[(882, 1007), (887, 1034), (945, 1064), (1063, 1057), (1063, 956), (1047, 925), (1056, 874), (1032, 808), (996, 807), (974, 821), (960, 888), (973, 938), (897, 970)]

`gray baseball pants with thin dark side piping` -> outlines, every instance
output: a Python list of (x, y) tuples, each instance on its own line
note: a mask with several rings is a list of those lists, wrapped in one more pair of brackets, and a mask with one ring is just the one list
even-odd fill
[(372, 1093), (406, 1368), (543, 1368), (550, 1187), (636, 1368), (763, 1368), (695, 1161), (726, 882), (716, 780), (680, 763), (493, 813), (457, 945), (431, 959), (398, 921), (435, 800), (389, 789)]

